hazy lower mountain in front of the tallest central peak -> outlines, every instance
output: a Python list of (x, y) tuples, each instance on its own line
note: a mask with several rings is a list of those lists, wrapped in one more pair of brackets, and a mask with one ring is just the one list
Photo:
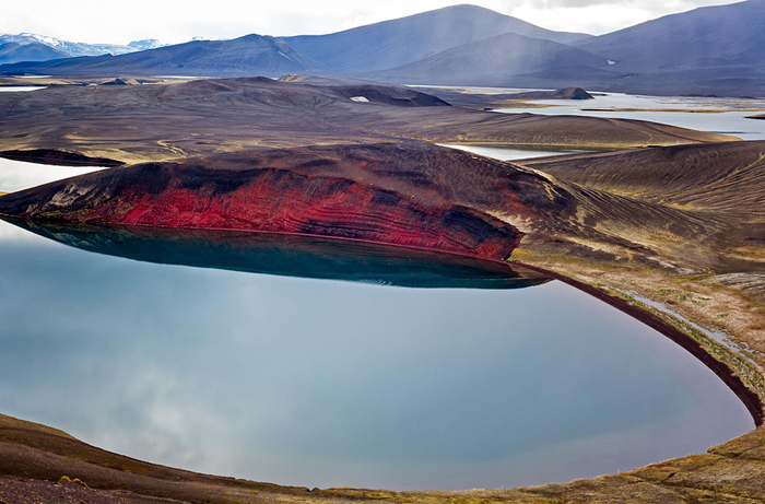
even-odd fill
[(569, 79), (605, 69), (605, 58), (565, 44), (506, 33), (466, 44), (413, 63), (372, 73), (408, 84), (513, 85), (515, 75), (567, 73)]

